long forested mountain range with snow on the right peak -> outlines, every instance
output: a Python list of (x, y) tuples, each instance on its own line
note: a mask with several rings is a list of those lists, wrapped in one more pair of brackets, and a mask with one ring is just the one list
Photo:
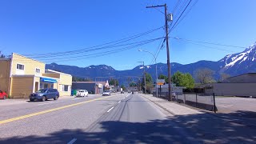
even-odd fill
[[(167, 65), (165, 63), (158, 63), (158, 74), (167, 75)], [(194, 70), (199, 68), (209, 68), (214, 71), (214, 78), (218, 79), (220, 74), (229, 74), (230, 76), (256, 72), (256, 42), (249, 46), (246, 50), (237, 54), (228, 54), (226, 57), (217, 62), (212, 61), (198, 61), (186, 65), (176, 62), (170, 63), (171, 74), (176, 71), (182, 73), (194, 74)], [(155, 78), (155, 65), (145, 66), (146, 72), (150, 73), (153, 79)], [(58, 70), (66, 74), (71, 74), (78, 78), (90, 78), (97, 81), (106, 80), (106, 78), (114, 77), (122, 79), (121, 82), (126, 81), (129, 77), (142, 76), (143, 66), (136, 66), (132, 70), (114, 70), (111, 66), (98, 65), (98, 66), (66, 66), (58, 65), (57, 63), (46, 64), (46, 69)], [(99, 78), (105, 77), (105, 78)]]

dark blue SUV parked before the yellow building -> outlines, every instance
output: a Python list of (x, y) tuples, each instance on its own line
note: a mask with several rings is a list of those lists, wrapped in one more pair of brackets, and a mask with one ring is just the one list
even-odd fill
[(56, 89), (40, 89), (35, 93), (30, 94), (30, 101), (33, 102), (35, 100), (41, 100), (42, 102), (47, 99), (54, 98), (54, 100), (58, 100), (59, 93)]

